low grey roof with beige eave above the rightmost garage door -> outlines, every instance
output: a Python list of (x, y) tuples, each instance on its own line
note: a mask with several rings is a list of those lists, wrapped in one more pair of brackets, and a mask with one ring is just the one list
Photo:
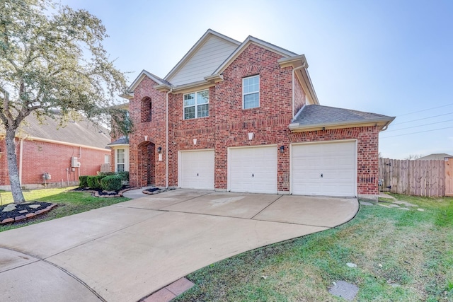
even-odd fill
[(378, 115), (344, 108), (306, 105), (299, 111), (289, 129), (294, 132), (361, 127), (376, 124), (380, 129), (388, 126), (395, 117)]

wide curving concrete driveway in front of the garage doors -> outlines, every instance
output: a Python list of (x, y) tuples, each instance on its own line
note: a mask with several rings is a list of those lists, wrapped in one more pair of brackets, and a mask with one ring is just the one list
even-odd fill
[(352, 219), (357, 199), (173, 190), (0, 233), (0, 301), (138, 301)]

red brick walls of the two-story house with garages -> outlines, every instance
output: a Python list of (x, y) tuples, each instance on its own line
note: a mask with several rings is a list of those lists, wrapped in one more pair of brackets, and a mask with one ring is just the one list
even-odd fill
[[(299, 141), (328, 141), (334, 139), (357, 139), (357, 184), (359, 194), (377, 194), (377, 139), (375, 127), (328, 130), (325, 132), (303, 132), (292, 134), (288, 124), (292, 119), (292, 69), (281, 68), (277, 60), (281, 57), (257, 45), (249, 45), (223, 73), (224, 81), (209, 88), (210, 115), (192, 120), (183, 120), (183, 94), (168, 95), (169, 105), (169, 150), (168, 172), (170, 186), (178, 185), (178, 151), (194, 149), (215, 150), (215, 178), (217, 189), (227, 186), (227, 149), (234, 146), (259, 146), (276, 144), (285, 146), (284, 153), (278, 153), (277, 190), (289, 191), (289, 144)], [(260, 107), (243, 110), (242, 79), (246, 76), (260, 76)], [(130, 181), (131, 185), (146, 185), (143, 168), (147, 156), (144, 146), (154, 144), (154, 151), (161, 146), (162, 161), (158, 154), (152, 154), (155, 169), (155, 184), (165, 183), (165, 98), (166, 93), (154, 90), (156, 83), (143, 79), (134, 91), (130, 102), (131, 117), (135, 132), (130, 136)], [(299, 83), (295, 85), (297, 111), (305, 104), (304, 91)], [(141, 120), (144, 98), (151, 98), (152, 121)], [(253, 132), (252, 140), (248, 132)], [(144, 142), (144, 135), (149, 142)], [(197, 139), (197, 144), (193, 144)], [(139, 150), (142, 151), (139, 151)]]

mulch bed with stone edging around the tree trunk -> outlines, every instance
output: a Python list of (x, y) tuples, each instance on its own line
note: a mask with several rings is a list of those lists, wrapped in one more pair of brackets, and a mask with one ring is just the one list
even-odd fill
[(0, 207), (0, 224), (16, 223), (45, 214), (57, 204), (49, 202), (24, 202), (23, 204), (5, 204)]

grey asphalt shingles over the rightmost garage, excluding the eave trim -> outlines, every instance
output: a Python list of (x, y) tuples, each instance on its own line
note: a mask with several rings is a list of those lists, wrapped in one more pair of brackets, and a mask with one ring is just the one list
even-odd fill
[(394, 117), (378, 115), (377, 113), (363, 112), (344, 108), (335, 108), (322, 105), (306, 105), (302, 112), (291, 124), (299, 126), (323, 126), (330, 124), (355, 124), (365, 122), (382, 122), (393, 120)]

